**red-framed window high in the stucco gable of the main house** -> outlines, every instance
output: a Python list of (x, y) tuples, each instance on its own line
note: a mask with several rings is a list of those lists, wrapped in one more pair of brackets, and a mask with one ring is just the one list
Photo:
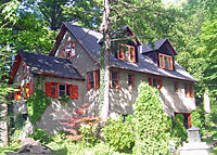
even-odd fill
[(61, 49), (61, 57), (72, 59), (75, 56), (75, 43), (68, 42)]

